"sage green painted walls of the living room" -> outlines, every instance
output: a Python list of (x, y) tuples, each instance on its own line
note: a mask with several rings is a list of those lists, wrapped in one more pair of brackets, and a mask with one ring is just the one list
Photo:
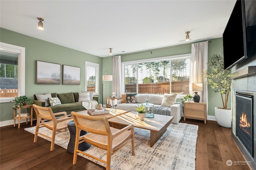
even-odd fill
[[(112, 95), (112, 82), (103, 81), (102, 75), (105, 70), (108, 74), (113, 72), (112, 57), (97, 57), (81, 51), (76, 51), (67, 47), (49, 43), (40, 39), (22, 35), (7, 29), (0, 28), (0, 41), (26, 48), (26, 96), (33, 98), (33, 94), (44, 94), (49, 92), (77, 92), (85, 90), (85, 61), (100, 64), (100, 95), (99, 103), (102, 101), (102, 83), (103, 83), (103, 104), (106, 104), (106, 97)], [(211, 39), (208, 43), (208, 58), (212, 54), (222, 54), (222, 38)], [(191, 53), (191, 43), (164, 47), (148, 51), (121, 55), (122, 62), (157, 57), (167, 57), (172, 55), (182, 55)], [(61, 65), (76, 66), (81, 68), (80, 85), (38, 85), (36, 84), (36, 61), (45, 61), (58, 63)], [(106, 74), (106, 73), (105, 73)], [(61, 68), (62, 82), (62, 68)], [(0, 104), (0, 121), (12, 120), (13, 110), (12, 103)], [(222, 106), (220, 94), (216, 94), (208, 86), (208, 115), (214, 116), (214, 107)], [(231, 100), (228, 106), (231, 106)]]

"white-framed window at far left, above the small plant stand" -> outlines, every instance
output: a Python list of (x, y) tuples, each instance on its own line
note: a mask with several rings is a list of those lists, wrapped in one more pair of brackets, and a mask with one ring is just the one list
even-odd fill
[(25, 48), (0, 42), (0, 102), (25, 95)]

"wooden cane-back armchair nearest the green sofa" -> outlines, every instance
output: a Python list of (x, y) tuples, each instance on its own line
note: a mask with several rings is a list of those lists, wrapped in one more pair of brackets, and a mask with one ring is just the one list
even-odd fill
[[(52, 140), (51, 142), (51, 148), (50, 151), (54, 150), (54, 141), (55, 141), (55, 135), (64, 131), (68, 130), (68, 122), (72, 121), (72, 117), (67, 116), (66, 111), (53, 113), (52, 109), (50, 107), (41, 107), (33, 104), (34, 110), (37, 115), (37, 122), (36, 122), (36, 131), (35, 131), (35, 137), (34, 137), (34, 143), (37, 141), (37, 135), (40, 134), (44, 137), (47, 137)], [(56, 115), (63, 115), (60, 116), (60, 118), (56, 118)], [(41, 120), (49, 120), (46, 122), (41, 122)], [(46, 127), (50, 130), (52, 130), (52, 137), (44, 135), (40, 132), (38, 132), (39, 128)]]

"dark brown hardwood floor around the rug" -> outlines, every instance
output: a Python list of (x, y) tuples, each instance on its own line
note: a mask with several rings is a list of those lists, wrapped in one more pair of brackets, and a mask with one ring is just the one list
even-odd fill
[[(246, 161), (231, 136), (231, 129), (218, 125), (216, 121), (193, 119), (180, 120), (198, 125), (196, 145), (196, 170), (250, 170), (248, 165), (227, 166), (226, 161)], [(24, 130), (26, 123), (0, 127), (0, 169), (1, 170), (104, 170), (106, 168), (78, 156), (72, 164), (73, 154), (55, 145), (50, 152), (50, 142)], [(36, 125), (36, 122), (33, 122)], [(136, 153), (135, 153), (136, 154)]]

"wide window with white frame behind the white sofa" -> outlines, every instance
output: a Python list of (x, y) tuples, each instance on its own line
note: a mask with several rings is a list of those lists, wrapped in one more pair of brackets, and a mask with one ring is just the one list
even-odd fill
[(122, 92), (189, 94), (191, 55), (122, 63)]

